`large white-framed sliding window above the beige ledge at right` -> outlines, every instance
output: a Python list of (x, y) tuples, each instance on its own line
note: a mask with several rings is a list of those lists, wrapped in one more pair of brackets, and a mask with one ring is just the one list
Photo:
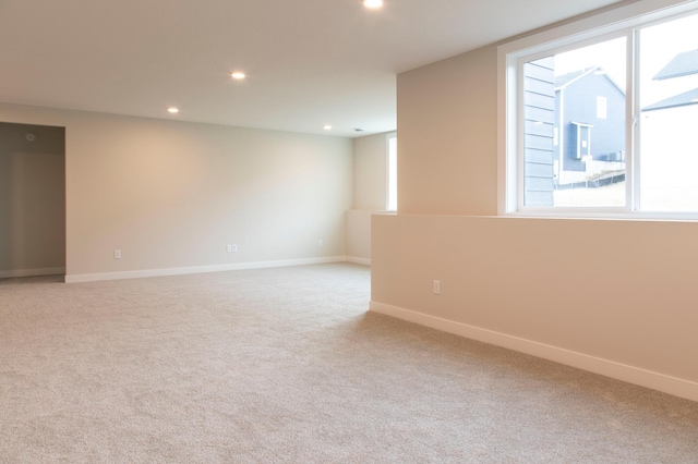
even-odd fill
[(504, 212), (698, 215), (698, 2), (679, 3), (501, 48)]

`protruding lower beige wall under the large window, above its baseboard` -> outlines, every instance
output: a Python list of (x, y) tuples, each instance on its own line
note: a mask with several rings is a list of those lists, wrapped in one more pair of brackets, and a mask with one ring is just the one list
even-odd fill
[(465, 216), (373, 221), (380, 244), (372, 256), (373, 302), (698, 387), (698, 246), (689, 245), (698, 223)]

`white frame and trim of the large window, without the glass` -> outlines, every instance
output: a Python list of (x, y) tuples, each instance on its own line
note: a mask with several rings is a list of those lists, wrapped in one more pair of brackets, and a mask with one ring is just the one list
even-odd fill
[[(604, 218), (652, 218), (698, 219), (698, 212), (646, 212), (637, 210), (639, 183), (639, 158), (633, 156), (638, 134), (635, 126), (639, 103), (635, 98), (637, 87), (633, 81), (638, 74), (639, 63), (629, 62), (626, 83), (626, 207), (561, 208), (525, 207), (521, 132), (522, 121), (518, 96), (522, 93), (524, 61), (559, 53), (613, 38), (627, 36), (628, 47), (634, 47), (634, 30), (638, 26), (669, 21), (687, 13), (698, 13), (698, 0), (642, 0), (621, 8), (585, 17), (582, 20), (533, 34), (497, 48), (497, 212), (500, 216), (553, 216), (553, 217), (604, 217)], [(634, 53), (628, 53), (633, 57)], [(631, 72), (630, 72), (631, 71)]]

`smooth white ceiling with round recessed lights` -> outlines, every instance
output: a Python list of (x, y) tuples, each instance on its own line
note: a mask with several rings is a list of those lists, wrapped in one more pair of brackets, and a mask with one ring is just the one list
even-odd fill
[(396, 74), (617, 2), (0, 0), (0, 101), (353, 137)]

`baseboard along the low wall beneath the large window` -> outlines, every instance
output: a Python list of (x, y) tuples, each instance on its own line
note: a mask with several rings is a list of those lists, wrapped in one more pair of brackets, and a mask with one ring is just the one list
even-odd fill
[(370, 303), (370, 310), (468, 339), (554, 361), (675, 396), (698, 401), (698, 383), (689, 380), (373, 301)]

